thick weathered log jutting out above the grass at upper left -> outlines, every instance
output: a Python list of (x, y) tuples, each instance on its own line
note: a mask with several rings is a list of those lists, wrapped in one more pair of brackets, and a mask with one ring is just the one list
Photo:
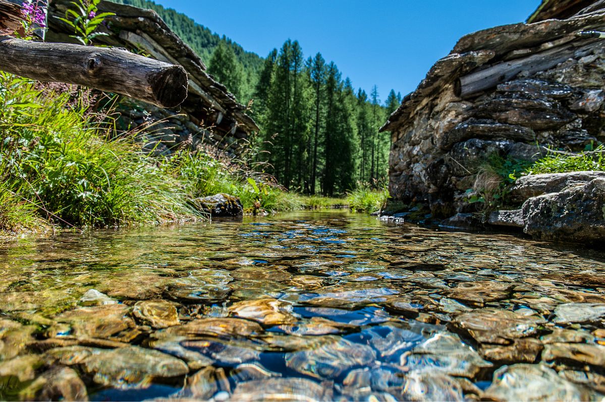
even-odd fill
[(56, 81), (115, 92), (162, 107), (187, 97), (182, 66), (123, 49), (40, 43), (0, 36), (0, 70), (38, 81)]

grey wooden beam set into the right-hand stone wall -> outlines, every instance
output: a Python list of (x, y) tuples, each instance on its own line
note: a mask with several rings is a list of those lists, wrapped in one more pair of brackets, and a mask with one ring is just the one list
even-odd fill
[(582, 47), (567, 45), (535, 53), (522, 59), (497, 63), (491, 67), (460, 77), (454, 85), (454, 92), (457, 97), (463, 99), (473, 97), (486, 89), (494, 88), (500, 83), (512, 80), (512, 78), (522, 71), (526, 71), (528, 74), (545, 71), (571, 57), (584, 56), (587, 54), (587, 51), (595, 46), (598, 46), (598, 44), (594, 42)]

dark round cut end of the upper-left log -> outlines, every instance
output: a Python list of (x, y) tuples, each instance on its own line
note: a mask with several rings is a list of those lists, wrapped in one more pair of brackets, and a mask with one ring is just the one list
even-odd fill
[(177, 107), (187, 97), (189, 80), (183, 66), (170, 66), (149, 77), (151, 91), (163, 107)]

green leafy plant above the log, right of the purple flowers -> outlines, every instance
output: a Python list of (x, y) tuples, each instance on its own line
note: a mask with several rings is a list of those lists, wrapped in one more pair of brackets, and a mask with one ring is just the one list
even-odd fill
[(89, 46), (93, 39), (99, 36), (106, 36), (106, 33), (96, 32), (99, 25), (105, 21), (105, 18), (116, 15), (115, 13), (98, 13), (101, 0), (77, 0), (72, 1), (74, 8), (68, 8), (65, 11), (65, 18), (59, 18), (65, 24), (74, 30), (74, 39), (79, 40), (83, 45)]

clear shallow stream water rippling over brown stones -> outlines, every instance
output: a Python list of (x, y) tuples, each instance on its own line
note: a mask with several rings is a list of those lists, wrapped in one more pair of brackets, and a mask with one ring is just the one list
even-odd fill
[(601, 400), (605, 255), (298, 212), (0, 244), (0, 399)]

